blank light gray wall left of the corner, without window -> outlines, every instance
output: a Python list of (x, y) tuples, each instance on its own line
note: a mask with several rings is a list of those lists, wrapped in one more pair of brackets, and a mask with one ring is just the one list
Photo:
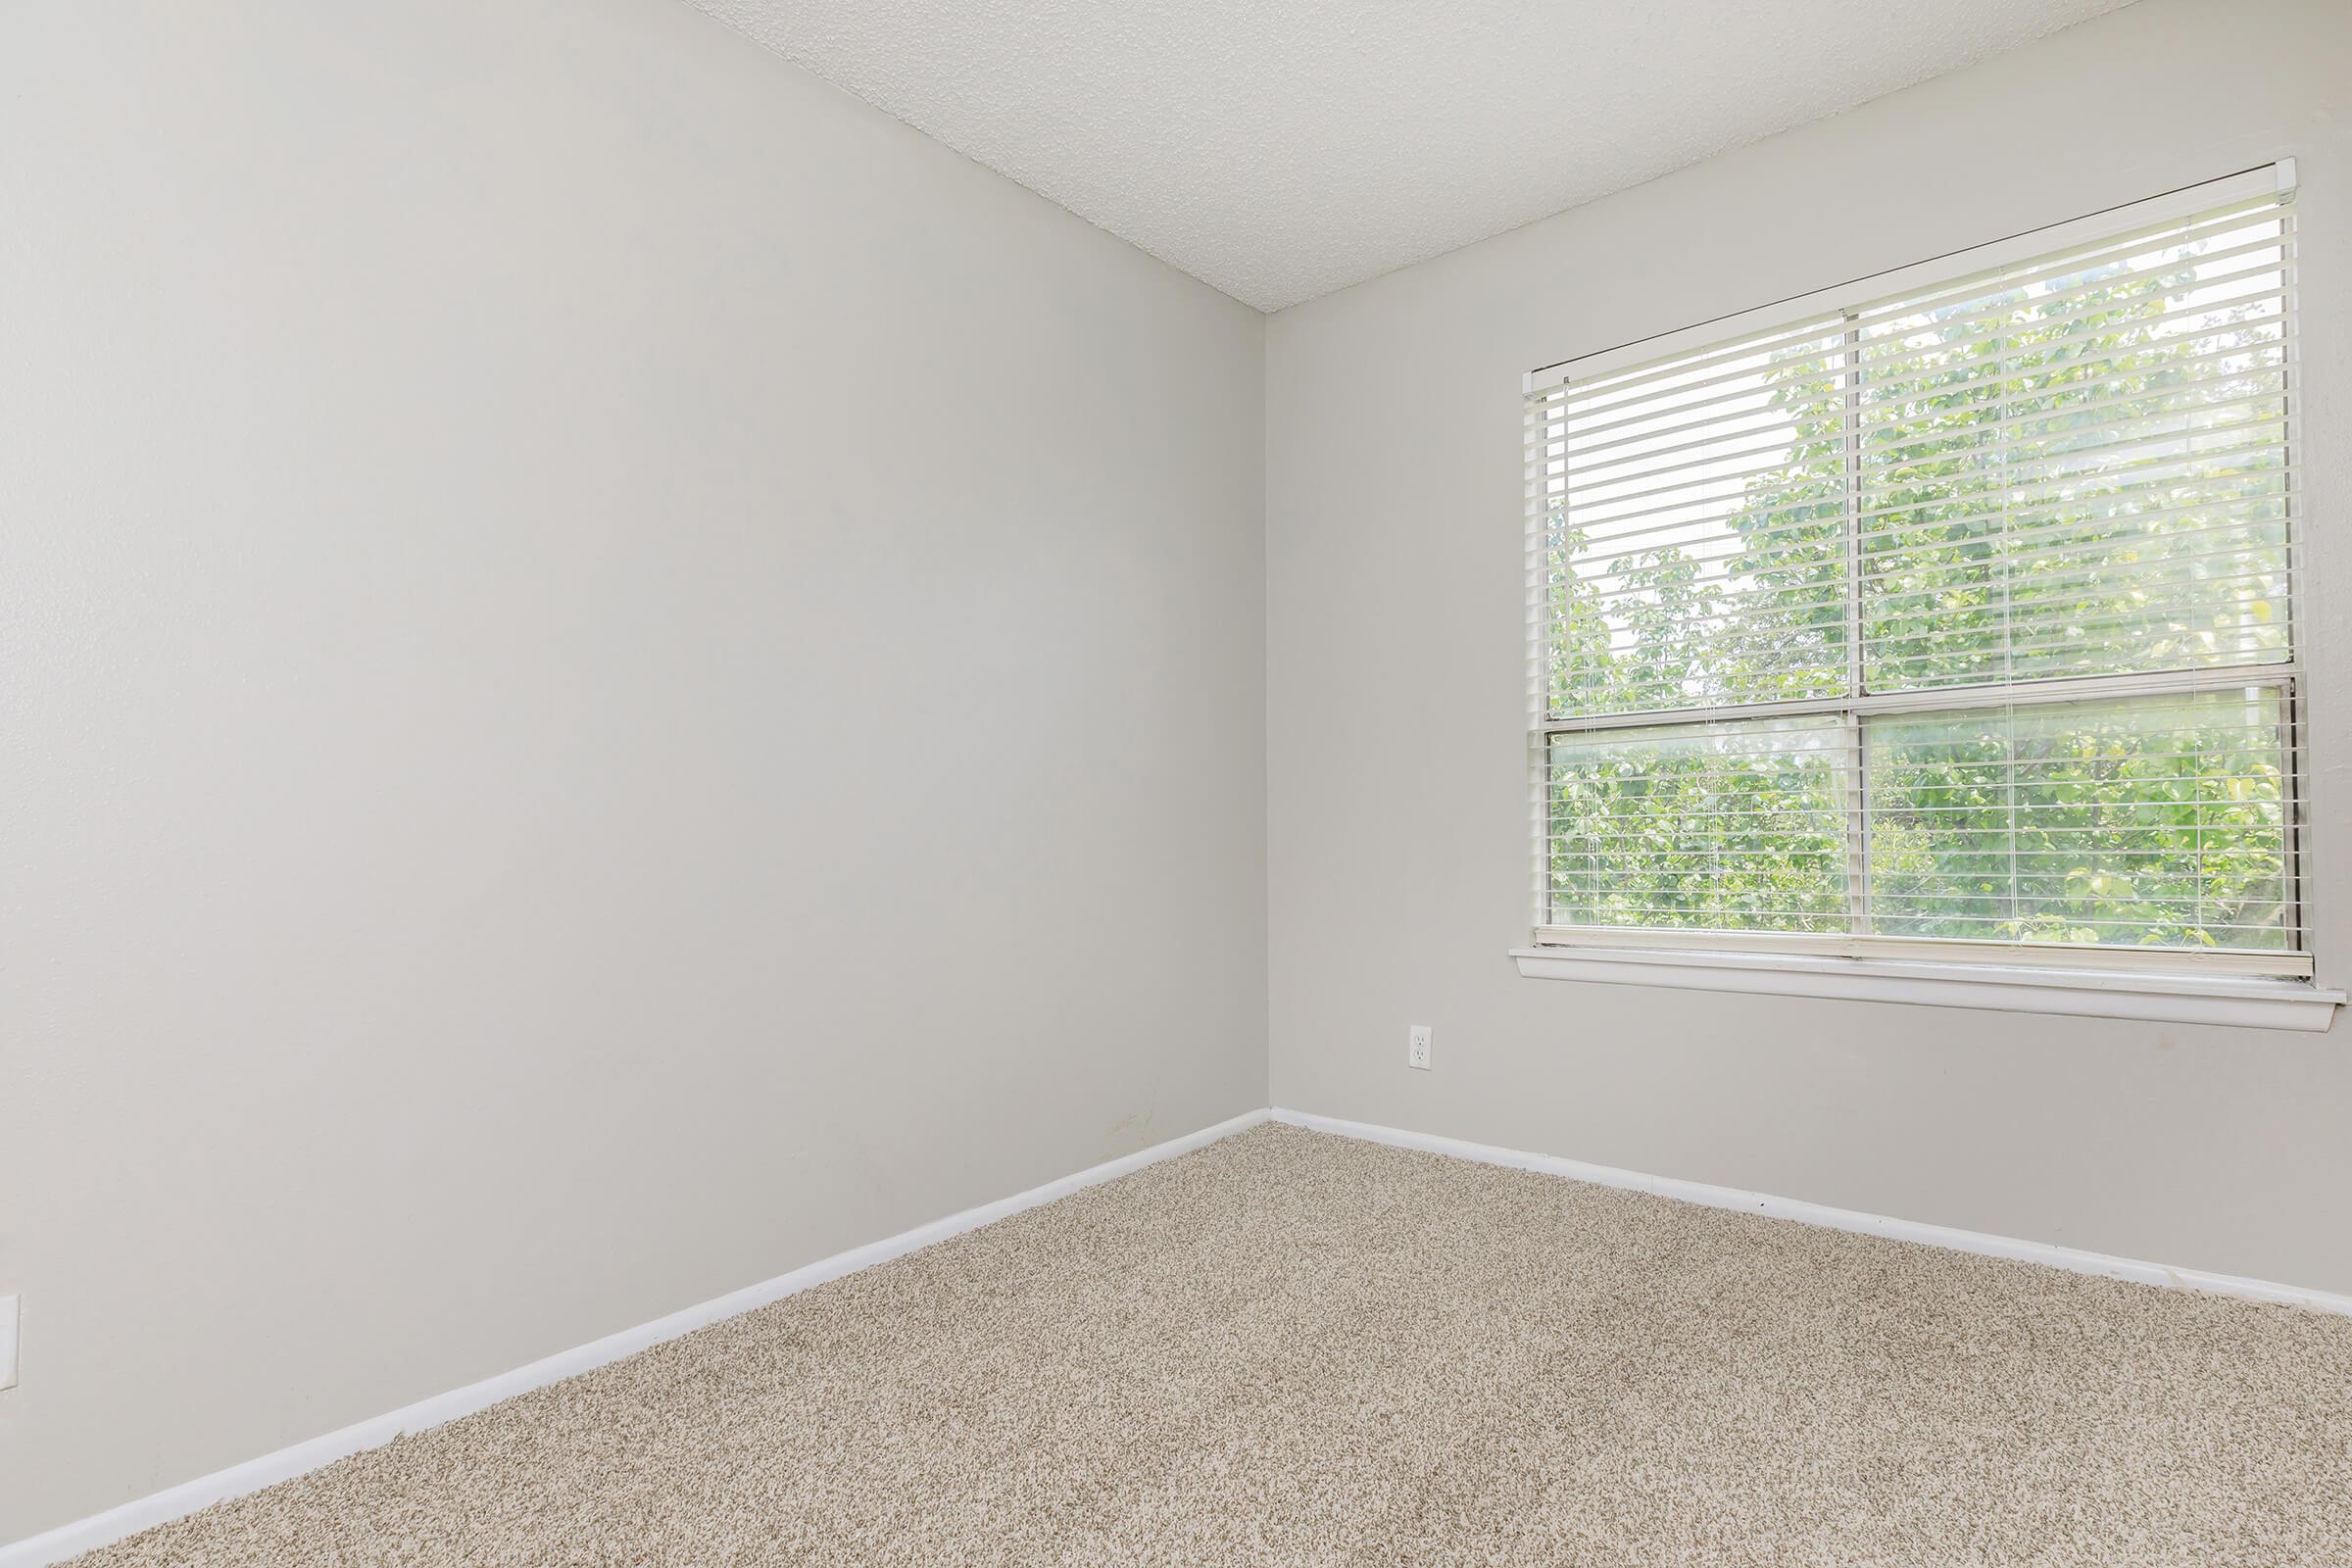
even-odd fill
[(0, 1540), (1263, 1105), (1261, 348), (682, 5), (0, 7)]

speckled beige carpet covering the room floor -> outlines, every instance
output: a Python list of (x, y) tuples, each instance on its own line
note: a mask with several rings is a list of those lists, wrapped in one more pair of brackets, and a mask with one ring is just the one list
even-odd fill
[(2340, 1568), (2352, 1319), (1265, 1126), (82, 1563)]

